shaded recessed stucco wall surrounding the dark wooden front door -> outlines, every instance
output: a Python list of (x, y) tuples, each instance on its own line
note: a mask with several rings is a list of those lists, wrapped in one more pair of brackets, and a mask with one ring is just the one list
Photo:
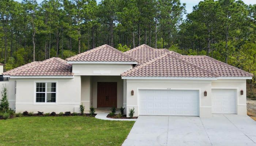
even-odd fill
[(117, 108), (123, 106), (124, 81), (121, 76), (93, 76), (93, 107), (97, 108), (97, 82), (117, 82)]

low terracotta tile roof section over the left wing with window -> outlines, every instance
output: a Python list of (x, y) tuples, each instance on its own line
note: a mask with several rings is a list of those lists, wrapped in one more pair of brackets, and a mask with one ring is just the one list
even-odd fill
[(2, 73), (9, 76), (73, 76), (72, 65), (60, 58), (35, 61)]

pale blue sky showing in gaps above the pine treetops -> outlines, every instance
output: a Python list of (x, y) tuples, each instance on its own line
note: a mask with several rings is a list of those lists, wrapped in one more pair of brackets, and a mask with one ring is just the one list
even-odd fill
[[(15, 1), (19, 1), (21, 2), (22, 0), (15, 0)], [(43, 0), (37, 0), (38, 3), (41, 3)], [(99, 1), (101, 0), (96, 0), (98, 3)], [(202, 0), (180, 0), (181, 3), (186, 3), (186, 10), (187, 10), (187, 13), (191, 13), (192, 12), (192, 9), (193, 9), (193, 6), (194, 5), (197, 5), (199, 3), (199, 1), (202, 1)], [(245, 4), (256, 4), (256, 0), (243, 0)]]

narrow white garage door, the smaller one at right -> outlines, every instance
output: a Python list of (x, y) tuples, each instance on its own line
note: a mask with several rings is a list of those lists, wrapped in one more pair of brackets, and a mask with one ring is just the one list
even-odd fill
[(212, 89), (212, 113), (236, 114), (236, 89)]

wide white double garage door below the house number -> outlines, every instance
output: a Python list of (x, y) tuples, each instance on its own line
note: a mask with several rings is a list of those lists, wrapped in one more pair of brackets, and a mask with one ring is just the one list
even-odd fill
[(139, 90), (139, 115), (199, 116), (197, 90)]

